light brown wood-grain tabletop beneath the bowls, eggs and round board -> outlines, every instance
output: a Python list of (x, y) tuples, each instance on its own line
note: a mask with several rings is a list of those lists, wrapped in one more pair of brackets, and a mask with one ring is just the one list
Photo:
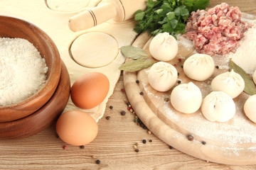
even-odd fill
[[(211, 5), (221, 2), (211, 1)], [(256, 0), (225, 2), (256, 15)], [(0, 140), (0, 169), (256, 169), (256, 165), (206, 162), (170, 149), (154, 134), (134, 123), (135, 115), (127, 111), (123, 88), (121, 75), (107, 103), (105, 115), (98, 122), (97, 137), (83, 149), (62, 142), (56, 137), (55, 125), (52, 125), (22, 140)], [(126, 114), (121, 115), (121, 111), (126, 111)], [(107, 116), (110, 116), (108, 120)], [(142, 140), (146, 140), (146, 144)], [(135, 152), (135, 143), (139, 152)], [(100, 164), (96, 164), (96, 160), (100, 160)]]

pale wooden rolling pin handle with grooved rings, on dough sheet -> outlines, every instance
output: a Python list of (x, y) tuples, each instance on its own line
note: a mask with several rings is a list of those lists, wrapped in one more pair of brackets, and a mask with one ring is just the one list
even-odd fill
[(99, 25), (117, 16), (117, 8), (113, 3), (106, 3), (94, 8), (88, 8), (70, 18), (70, 30), (77, 32)]

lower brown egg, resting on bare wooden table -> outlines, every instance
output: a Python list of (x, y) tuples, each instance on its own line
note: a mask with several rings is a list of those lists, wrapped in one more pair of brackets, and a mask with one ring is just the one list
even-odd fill
[(69, 145), (87, 145), (95, 139), (98, 132), (96, 121), (83, 111), (67, 111), (60, 115), (56, 131), (63, 142)]

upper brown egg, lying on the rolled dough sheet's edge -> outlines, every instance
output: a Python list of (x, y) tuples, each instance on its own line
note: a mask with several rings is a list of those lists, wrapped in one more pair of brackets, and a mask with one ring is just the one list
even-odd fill
[(79, 108), (94, 108), (107, 96), (110, 81), (105, 74), (90, 72), (78, 78), (71, 88), (71, 99)]

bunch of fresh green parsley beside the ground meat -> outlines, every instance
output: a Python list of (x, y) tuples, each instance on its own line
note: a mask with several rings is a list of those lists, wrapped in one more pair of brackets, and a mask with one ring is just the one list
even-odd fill
[(148, 30), (150, 34), (170, 33), (174, 37), (185, 33), (186, 21), (192, 11), (206, 9), (210, 0), (149, 0), (146, 10), (135, 13), (137, 33)]

